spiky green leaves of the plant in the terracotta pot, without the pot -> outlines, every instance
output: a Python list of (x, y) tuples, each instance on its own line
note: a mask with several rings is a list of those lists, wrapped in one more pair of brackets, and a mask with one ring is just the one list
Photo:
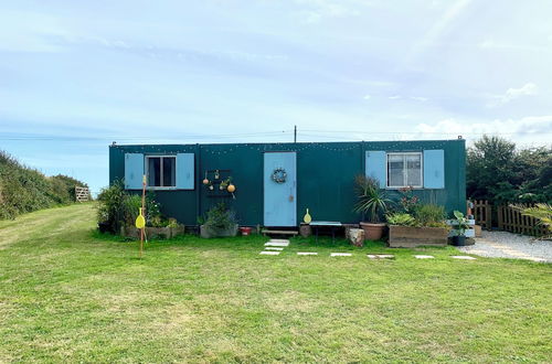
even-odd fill
[(358, 202), (353, 211), (361, 213), (364, 217), (368, 215), (371, 223), (379, 223), (392, 201), (386, 197), (385, 191), (380, 189), (375, 179), (359, 174), (354, 178), (354, 185)]

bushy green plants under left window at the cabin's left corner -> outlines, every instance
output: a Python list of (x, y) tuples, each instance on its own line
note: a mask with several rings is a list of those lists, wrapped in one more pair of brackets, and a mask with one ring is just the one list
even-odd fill
[[(141, 208), (141, 196), (125, 191), (123, 181), (115, 181), (98, 195), (97, 220), (100, 229), (118, 234), (123, 225), (134, 225)], [(146, 194), (146, 225), (167, 226), (152, 193)]]

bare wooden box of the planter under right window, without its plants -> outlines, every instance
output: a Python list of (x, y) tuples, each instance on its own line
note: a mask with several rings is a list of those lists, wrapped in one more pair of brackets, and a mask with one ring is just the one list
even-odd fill
[(389, 246), (414, 248), (417, 246), (446, 246), (448, 229), (443, 227), (389, 226)]

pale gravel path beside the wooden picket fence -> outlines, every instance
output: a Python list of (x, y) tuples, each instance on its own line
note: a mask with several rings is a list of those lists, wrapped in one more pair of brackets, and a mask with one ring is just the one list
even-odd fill
[(464, 253), (482, 257), (528, 259), (552, 263), (552, 242), (507, 232), (482, 232), (471, 246), (458, 247)]

